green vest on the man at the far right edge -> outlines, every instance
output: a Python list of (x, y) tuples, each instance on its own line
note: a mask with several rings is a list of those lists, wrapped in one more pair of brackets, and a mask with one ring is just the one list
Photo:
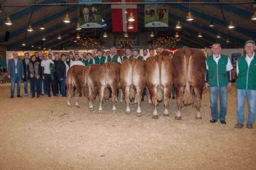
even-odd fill
[(245, 57), (246, 55), (238, 58), (237, 89), (256, 90), (256, 55), (254, 54), (249, 67)]

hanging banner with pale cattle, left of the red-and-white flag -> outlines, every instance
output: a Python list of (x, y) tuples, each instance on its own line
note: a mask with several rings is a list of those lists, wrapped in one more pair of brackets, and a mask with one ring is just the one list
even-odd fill
[[(82, 1), (79, 3), (101, 3), (99, 0)], [(102, 11), (100, 4), (79, 5), (81, 28), (102, 28)]]

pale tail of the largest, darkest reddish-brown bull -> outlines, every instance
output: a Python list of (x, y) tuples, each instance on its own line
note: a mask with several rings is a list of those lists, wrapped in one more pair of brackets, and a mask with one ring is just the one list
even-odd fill
[(191, 65), (190, 62), (191, 62), (191, 51), (185, 50), (186, 86), (185, 86), (184, 96), (183, 96), (184, 105), (193, 104), (193, 95), (191, 93), (191, 86), (189, 84), (190, 65)]

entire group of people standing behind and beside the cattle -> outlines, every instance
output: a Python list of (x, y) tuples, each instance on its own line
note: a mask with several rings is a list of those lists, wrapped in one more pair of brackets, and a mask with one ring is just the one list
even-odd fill
[[(256, 112), (256, 56), (254, 53), (255, 42), (248, 40), (245, 42), (246, 55), (238, 59), (237, 64), (237, 94), (238, 94), (238, 123), (235, 128), (242, 128), (244, 123), (244, 105), (245, 98), (248, 98), (248, 120), (246, 128), (253, 128)], [(157, 47), (158, 53), (163, 52), (163, 47)], [(206, 74), (205, 88), (210, 89), (211, 117), (210, 123), (216, 123), (220, 120), (221, 124), (226, 124), (225, 116), (227, 112), (227, 92), (231, 88), (231, 70), (233, 69), (228, 56), (221, 54), (221, 45), (219, 43), (212, 44), (212, 55), (206, 58)], [(23, 79), (25, 95), (28, 95), (28, 80), (30, 81), (30, 92), (32, 98), (47, 94), (54, 96), (59, 93), (65, 97), (66, 94), (66, 76), (68, 69), (73, 65), (104, 64), (106, 62), (122, 63), (126, 59), (136, 58), (138, 60), (146, 60), (155, 56), (155, 50), (148, 51), (143, 49), (143, 56), (139, 55), (138, 49), (131, 50), (126, 48), (123, 56), (116, 54), (116, 48), (111, 47), (110, 51), (101, 50), (92, 53), (83, 53), (79, 57), (77, 50), (73, 54), (55, 54), (52, 60), (51, 54), (42, 54), (41, 51), (35, 52), (29, 57), (25, 53), (24, 60), (18, 59), (17, 52), (13, 52), (13, 59), (8, 62), (8, 78), (11, 79), (11, 98), (14, 96), (14, 86), (17, 83), (17, 98), (20, 95), (20, 82)], [(97, 56), (96, 56), (97, 55)], [(44, 94), (42, 94), (42, 87)], [(144, 92), (145, 94), (145, 92)], [(218, 111), (218, 96), (220, 96), (220, 111)], [(173, 99), (174, 88), (173, 88)]]

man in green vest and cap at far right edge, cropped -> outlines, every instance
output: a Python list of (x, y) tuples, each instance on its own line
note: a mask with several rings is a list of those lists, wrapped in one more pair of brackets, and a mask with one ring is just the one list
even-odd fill
[(238, 123), (235, 128), (242, 128), (244, 123), (244, 104), (246, 95), (248, 99), (248, 118), (246, 128), (252, 129), (255, 121), (256, 112), (256, 54), (255, 41), (245, 42), (244, 49), (246, 55), (238, 58), (237, 62), (237, 95)]

